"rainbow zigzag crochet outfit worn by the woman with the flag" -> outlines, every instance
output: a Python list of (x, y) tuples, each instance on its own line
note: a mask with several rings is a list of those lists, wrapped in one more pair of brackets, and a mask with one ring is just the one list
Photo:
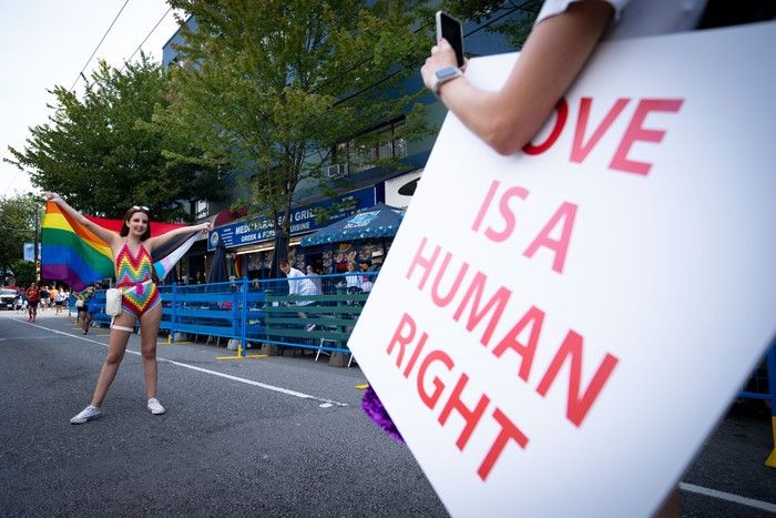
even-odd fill
[[(126, 243), (119, 252), (116, 264), (116, 287), (121, 290), (121, 307), (140, 318), (162, 302), (156, 284), (151, 281), (153, 262), (151, 254), (141, 243), (137, 256)], [(146, 282), (147, 281), (147, 282)]]

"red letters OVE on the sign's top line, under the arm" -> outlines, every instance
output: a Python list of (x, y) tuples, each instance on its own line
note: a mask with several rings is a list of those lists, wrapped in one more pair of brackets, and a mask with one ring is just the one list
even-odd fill
[[(631, 116), (625, 133), (620, 139), (620, 144), (612, 155), (609, 167), (615, 171), (626, 173), (646, 175), (652, 169), (649, 162), (640, 162), (629, 158), (631, 148), (636, 142), (660, 143), (665, 136), (665, 131), (654, 128), (645, 128), (647, 115), (653, 112), (676, 113), (682, 108), (682, 99), (642, 99), (636, 104), (635, 111)], [(590, 110), (593, 105), (591, 98), (581, 98), (580, 106), (576, 115), (576, 125), (574, 128), (574, 138), (571, 144), (571, 162), (582, 163), (588, 155), (593, 151), (595, 145), (610, 130), (614, 121), (623, 113), (625, 108), (631, 103), (631, 99), (617, 99), (609, 109), (603, 121), (596, 126), (590, 124)], [(558, 138), (563, 133), (565, 123), (569, 120), (569, 103), (561, 98), (555, 105), (555, 123), (550, 131), (550, 135), (539, 144), (529, 142), (523, 148), (523, 152), (529, 155), (538, 155), (544, 153), (553, 146)], [(590, 128), (589, 128), (590, 126)]]

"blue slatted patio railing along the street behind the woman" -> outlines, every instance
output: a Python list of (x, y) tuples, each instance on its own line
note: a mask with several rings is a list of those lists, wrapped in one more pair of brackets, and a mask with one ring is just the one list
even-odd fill
[[(376, 280), (376, 272), (318, 275), (318, 295), (289, 295), (287, 278), (160, 286), (162, 322), (171, 343), (180, 333), (237, 339), (246, 344), (347, 353), (347, 341)], [(90, 301), (94, 322), (110, 324), (105, 292)]]

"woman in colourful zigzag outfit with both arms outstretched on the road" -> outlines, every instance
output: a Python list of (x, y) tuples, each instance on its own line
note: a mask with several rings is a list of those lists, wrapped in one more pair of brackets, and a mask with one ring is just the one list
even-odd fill
[(145, 377), (146, 407), (154, 414), (164, 414), (165, 409), (156, 399), (156, 337), (162, 319), (162, 305), (159, 288), (155, 284), (155, 272), (151, 254), (154, 248), (164, 246), (176, 236), (210, 230), (211, 223), (193, 226), (182, 226), (165, 234), (151, 237), (149, 207), (133, 205), (124, 214), (120, 232), (104, 228), (86, 219), (71, 207), (59, 194), (45, 193), (45, 199), (57, 203), (69, 216), (93, 232), (108, 243), (115, 264), (116, 287), (122, 292), (122, 312), (111, 325), (111, 336), (108, 356), (102, 365), (92, 402), (72, 419), (71, 424), (80, 425), (102, 415), (102, 403), (108, 389), (115, 378), (116, 372), (124, 357), (130, 334), (140, 321), (141, 354)]

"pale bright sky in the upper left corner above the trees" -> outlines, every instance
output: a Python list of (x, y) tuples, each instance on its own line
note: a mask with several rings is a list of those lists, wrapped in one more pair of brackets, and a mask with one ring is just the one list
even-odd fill
[[(83, 91), (84, 65), (86, 78), (100, 59), (121, 68), (146, 37), (142, 51), (161, 61), (162, 47), (177, 30), (169, 9), (164, 0), (0, 0), (0, 158), (11, 156), (9, 145), (21, 150), (29, 128), (48, 121), (47, 104), (55, 101), (48, 90), (75, 82), (74, 90)], [(0, 162), (0, 197), (28, 191), (34, 187), (27, 173)]]

